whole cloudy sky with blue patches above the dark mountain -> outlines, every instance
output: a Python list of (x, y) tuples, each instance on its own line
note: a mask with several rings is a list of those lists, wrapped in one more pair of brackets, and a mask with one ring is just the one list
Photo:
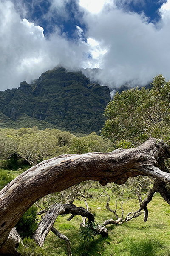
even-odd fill
[(0, 0), (0, 90), (57, 66), (111, 90), (169, 80), (170, 0)]

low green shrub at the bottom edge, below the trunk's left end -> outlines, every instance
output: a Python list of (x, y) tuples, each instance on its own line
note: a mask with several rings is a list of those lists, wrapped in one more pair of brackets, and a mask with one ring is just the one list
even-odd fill
[(24, 238), (23, 243), (20, 242), (18, 252), (21, 253), (21, 256), (47, 256), (45, 251), (29, 237)]

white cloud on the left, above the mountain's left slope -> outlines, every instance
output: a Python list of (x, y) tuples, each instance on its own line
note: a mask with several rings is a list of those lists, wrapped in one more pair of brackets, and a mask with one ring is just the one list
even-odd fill
[(48, 38), (43, 28), (21, 19), (11, 1), (0, 2), (0, 90), (37, 79), (58, 64), (68, 69), (84, 66), (87, 45), (69, 41), (56, 27)]

